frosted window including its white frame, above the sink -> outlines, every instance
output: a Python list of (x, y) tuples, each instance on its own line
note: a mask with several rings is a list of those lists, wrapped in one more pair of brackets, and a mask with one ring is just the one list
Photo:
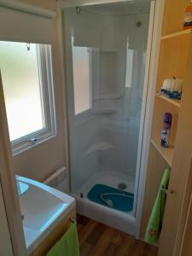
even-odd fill
[(0, 68), (16, 154), (55, 136), (51, 47), (1, 41)]

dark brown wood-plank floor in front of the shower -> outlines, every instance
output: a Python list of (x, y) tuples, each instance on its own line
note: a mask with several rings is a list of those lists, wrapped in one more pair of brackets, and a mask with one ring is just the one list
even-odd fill
[(80, 256), (155, 256), (157, 248), (90, 218), (78, 216)]

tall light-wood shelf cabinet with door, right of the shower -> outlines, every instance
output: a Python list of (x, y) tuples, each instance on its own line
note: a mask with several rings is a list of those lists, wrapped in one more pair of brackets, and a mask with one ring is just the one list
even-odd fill
[[(148, 177), (143, 207), (142, 233), (154, 205), (165, 168), (171, 169), (166, 209), (159, 241), (159, 256), (178, 255), (184, 224), (183, 203), (189, 189), (192, 155), (192, 31), (183, 30), (184, 11), (190, 0), (166, 0), (156, 92), (164, 79), (183, 79), (181, 101), (158, 94), (154, 98), (154, 115), (148, 158)], [(172, 113), (171, 147), (160, 146), (164, 113)], [(189, 199), (189, 196), (188, 196)], [(187, 204), (187, 202), (185, 202)], [(185, 211), (186, 212), (186, 211)]]

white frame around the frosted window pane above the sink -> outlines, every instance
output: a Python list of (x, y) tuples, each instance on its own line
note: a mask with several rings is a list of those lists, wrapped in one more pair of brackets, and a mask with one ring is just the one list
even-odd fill
[(38, 67), (39, 67), (39, 84), (41, 88), (41, 97), (45, 127), (39, 131), (27, 134), (11, 142), (12, 153), (20, 154), (21, 152), (32, 148), (39, 143), (44, 143), (56, 136), (56, 119), (55, 119), (55, 97), (51, 45), (38, 44)]

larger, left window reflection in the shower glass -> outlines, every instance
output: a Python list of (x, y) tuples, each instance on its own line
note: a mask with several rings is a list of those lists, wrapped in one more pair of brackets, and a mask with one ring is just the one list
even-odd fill
[(79, 114), (91, 108), (88, 47), (73, 46), (73, 84), (75, 114)]

